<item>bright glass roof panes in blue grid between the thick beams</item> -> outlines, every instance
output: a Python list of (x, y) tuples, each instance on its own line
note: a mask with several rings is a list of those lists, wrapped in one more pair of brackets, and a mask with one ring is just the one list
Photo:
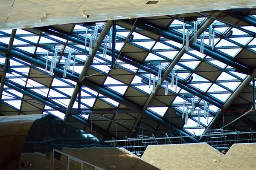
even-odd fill
[[(205, 22), (205, 20), (205, 18), (201, 18), (201, 23)], [(182, 37), (183, 23), (182, 19), (170, 19), (167, 30), (169, 33)], [(214, 23), (213, 27), (216, 31), (215, 48), (212, 51), (231, 60), (239, 59), (239, 54), (245, 50), (250, 51), (254, 55), (256, 54), (256, 40), (253, 38), (253, 35), (221, 22), (215, 21)], [(104, 23), (102, 24), (104, 26)], [(103, 26), (99, 26), (99, 33), (102, 31)], [(185, 30), (190, 29), (190, 26), (193, 26), (193, 23), (187, 23)], [(87, 29), (88, 41), (93, 34), (94, 27), (76, 24), (68, 34), (73, 38), (84, 41), (86, 36), (85, 30)], [(255, 30), (254, 27), (249, 28), (249, 26), (243, 28), (250, 31)], [(55, 30), (53, 27), (51, 29)], [(165, 119), (170, 110), (169, 108), (172, 108), (177, 112), (175, 113), (176, 116), (180, 116), (184, 109), (183, 103), (186, 102), (185, 108), (190, 112), (192, 101), (195, 99), (195, 109), (203, 113), (205, 100), (186, 91), (184, 87), (195, 91), (196, 94), (203, 94), (207, 99), (219, 104), (216, 106), (208, 103), (209, 121), (207, 123), (202, 118), (201, 125), (198, 127), (198, 117), (189, 114), (188, 125), (183, 123), (181, 129), (193, 135), (194, 133), (195, 135), (201, 135), (204, 132), (213, 117), (221, 109), (219, 106), (227, 102), (229, 97), (246, 78), (245, 74), (236, 72), (235, 68), (193, 49), (186, 51), (174, 68), (168, 70), (170, 63), (180, 53), (180, 49), (183, 47), (182, 44), (168, 40), (165, 37), (147, 34), (139, 28), (131, 30), (131, 28), (126, 28), (121, 22), (117, 23), (116, 30), (115, 52), (121, 56), (116, 61), (116, 69), (112, 70), (110, 67), (111, 56), (104, 56), (102, 51), (99, 50), (93, 58), (93, 62), (84, 79), (96, 83), (112, 94), (143, 108), (147, 100), (149, 100), (148, 96), (152, 94), (153, 85), (152, 83), (150, 83), (150, 86), (148, 85), (154, 79), (154, 75), (151, 73), (152, 71), (158, 72), (159, 65), (162, 65), (162, 74), (168, 74), (158, 91), (155, 92), (153, 99), (146, 106), (146, 111), (159, 116), (161, 119)], [(231, 37), (223, 37), (223, 35), (231, 30), (233, 31)], [(55, 31), (58, 32), (57, 29)], [(204, 40), (206, 48), (210, 48), (208, 32), (209, 30), (207, 29), (205, 32), (207, 36), (205, 36)], [(10, 34), (10, 31), (0, 31), (1, 46), (8, 46)], [(128, 35), (133, 35), (133, 39), (126, 41)], [(198, 44), (200, 44), (199, 40)], [(103, 47), (103, 44), (101, 47)], [(12, 46), (13, 50), (33, 57), (38, 61), (45, 63), (48, 60), (48, 64), (52, 61), (55, 48), (58, 48), (57, 67), (61, 70), (64, 70), (64, 58), (67, 58), (68, 52), (72, 51), (72, 55), (76, 56), (76, 61), (74, 61), (74, 57), (71, 57), (72, 65), (70, 66), (69, 73), (74, 71), (73, 75), (79, 77), (85, 61), (89, 57), (89, 47), (68, 41), (64, 37), (49, 35), (44, 32), (38, 34), (35, 29), (18, 29)], [(48, 59), (47, 52), (49, 52)], [(122, 57), (132, 62), (127, 63)], [(2, 68), (4, 62), (5, 54), (0, 53), (0, 65), (2, 65)], [(148, 69), (138, 68), (138, 65), (133, 65), (132, 63), (139, 63)], [(175, 83), (172, 86), (171, 81), (168, 80), (175, 76), (172, 75), (173, 70), (175, 75), (177, 75), (178, 83), (176, 84), (175, 78)], [(6, 74), (6, 82), (44, 99), (49, 102), (49, 105), (43, 105), (35, 101), (35, 99), (30, 99), (26, 95), (9, 88), (8, 85), (4, 86), (2, 102), (22, 114), (30, 113), (29, 109), (24, 108), (24, 103), (26, 103), (31, 105), (33, 111), (54, 114), (64, 119), (64, 113), (68, 108), (76, 82), (55, 75), (51, 76), (49, 73), (44, 68), (36, 67), (17, 58), (10, 58), (10, 71)], [(156, 76), (155, 79), (157, 80), (158, 77)], [(166, 88), (166, 84), (168, 84), (168, 88)], [(165, 90), (168, 92), (167, 95), (164, 94)], [(56, 111), (53, 106), (61, 108), (63, 111)], [(78, 96), (73, 105), (73, 109), (77, 108)], [(81, 88), (81, 110), (84, 112), (97, 109), (118, 110), (123, 108), (126, 108), (126, 106), (115, 101), (115, 99), (111, 99), (109, 96), (104, 96), (88, 87), (83, 86)], [(83, 115), (82, 119), (90, 119), (90, 116)], [(182, 120), (181, 117), (180, 120)]]

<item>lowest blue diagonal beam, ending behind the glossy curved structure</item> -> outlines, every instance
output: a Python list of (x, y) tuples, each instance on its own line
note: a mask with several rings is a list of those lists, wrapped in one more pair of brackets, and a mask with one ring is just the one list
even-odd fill
[[(4, 85), (8, 86), (9, 88), (14, 89), (15, 91), (20, 92), (21, 94), (24, 94), (26, 96), (29, 96), (32, 99), (35, 99), (36, 101), (44, 104), (44, 105), (50, 105), (50, 107), (54, 108), (57, 111), (60, 111), (61, 113), (65, 113), (64, 108), (60, 108), (56, 105), (49, 104), (46, 99), (41, 98), (38, 95), (32, 94), (31, 91), (27, 91), (26, 89), (22, 89), (20, 87), (17, 87), (15, 85), (12, 85), (10, 82), (5, 82)], [(76, 119), (78, 122), (84, 124), (85, 126), (92, 128), (97, 133), (100, 133), (101, 135), (105, 136), (108, 139), (112, 139), (113, 136), (111, 133), (107, 132), (106, 130), (103, 130), (102, 128), (98, 127), (97, 125), (91, 124), (90, 122), (85, 121), (84, 119), (80, 118), (78, 115), (73, 116), (74, 119)]]

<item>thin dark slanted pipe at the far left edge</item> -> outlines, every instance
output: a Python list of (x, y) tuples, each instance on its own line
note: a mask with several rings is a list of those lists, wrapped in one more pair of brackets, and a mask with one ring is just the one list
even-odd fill
[[(14, 42), (14, 38), (15, 38), (15, 34), (16, 34), (16, 29), (12, 30), (12, 34), (9, 40), (9, 44), (7, 47), (7, 51), (10, 52), (12, 50), (12, 45)], [(2, 73), (2, 77), (1, 77), (1, 85), (0, 85), (0, 105), (1, 105), (1, 101), (2, 101), (2, 95), (3, 95), (3, 86), (4, 86), (4, 82), (5, 82), (5, 78), (6, 78), (6, 72), (7, 72), (7, 68), (8, 68), (8, 62), (9, 62), (9, 56), (6, 55), (6, 59), (3, 65), (3, 73)]]

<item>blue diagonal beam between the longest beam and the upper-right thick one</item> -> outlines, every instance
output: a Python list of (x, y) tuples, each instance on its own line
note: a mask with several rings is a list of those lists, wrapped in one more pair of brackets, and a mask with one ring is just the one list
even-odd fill
[[(65, 34), (61, 34), (61, 33), (55, 32), (55, 31), (51, 31), (47, 27), (41, 27), (41, 28), (37, 28), (37, 29), (39, 31), (44, 31), (47, 34), (52, 34), (52, 35), (55, 35), (57, 37), (63, 38), (65, 40), (70, 40), (70, 41), (75, 42), (77, 44), (84, 45), (84, 41), (83, 40), (79, 40), (79, 39), (74, 38), (74, 37), (72, 37), (70, 35), (65, 35)], [(89, 42), (87, 42), (87, 45), (89, 45)], [(100, 47), (99, 51), (103, 52), (103, 48)], [(112, 53), (111, 53), (111, 51), (107, 51), (107, 54), (109, 56), (111, 56)], [(153, 69), (150, 69), (150, 68), (146, 67), (143, 63), (140, 63), (138, 61), (134, 62), (134, 61), (132, 61), (130, 59), (127, 59), (127, 58), (123, 57), (122, 55), (119, 56), (118, 54), (116, 54), (116, 58), (118, 58), (118, 57), (119, 57), (119, 60), (121, 60), (121, 61), (123, 61), (123, 62), (125, 62), (127, 64), (130, 64), (130, 65), (132, 65), (134, 67), (140, 68), (142, 70), (147, 71), (148, 73), (151, 73), (151, 74), (154, 74), (155, 76), (158, 76), (158, 72), (157, 71), (154, 71)], [(169, 81), (169, 82), (172, 81), (172, 79), (170, 77), (166, 77), (166, 80)], [(183, 83), (180, 83), (180, 82), (178, 82), (177, 85), (178, 85), (178, 87), (188, 91), (191, 94), (194, 94), (195, 96), (200, 97), (201, 99), (209, 102), (212, 105), (215, 105), (218, 108), (222, 107), (222, 105), (220, 103), (214, 101), (213, 99), (209, 98), (208, 96), (205, 96), (200, 91), (195, 91), (192, 88), (190, 88), (190, 87), (188, 87), (188, 86), (186, 86), (186, 85), (184, 85)]]

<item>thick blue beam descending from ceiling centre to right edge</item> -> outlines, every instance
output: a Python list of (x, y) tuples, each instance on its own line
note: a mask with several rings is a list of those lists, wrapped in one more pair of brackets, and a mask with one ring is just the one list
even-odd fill
[[(133, 25), (134, 20), (122, 20), (123, 23)], [(154, 26), (150, 26), (150, 23), (146, 23), (145, 21), (137, 21), (134, 26), (137, 28), (143, 29), (145, 31), (151, 32), (152, 34), (157, 34), (161, 37), (165, 37), (169, 40), (173, 40), (175, 42), (178, 42), (180, 44), (183, 43), (183, 38), (179, 37), (175, 34), (170, 33), (169, 31), (162, 30), (159, 28), (155, 28)], [(189, 43), (189, 47), (195, 49), (196, 51), (200, 52), (201, 46), (196, 43)], [(216, 59), (220, 62), (223, 62), (226, 65), (230, 65), (231, 67), (235, 68), (236, 71), (251, 75), (252, 71), (249, 68), (244, 67), (243, 65), (240, 65), (239, 63), (234, 62), (232, 59), (228, 59), (218, 53), (215, 53), (211, 49), (204, 48), (204, 54), (206, 54), (209, 57), (212, 57), (213, 59)]]

